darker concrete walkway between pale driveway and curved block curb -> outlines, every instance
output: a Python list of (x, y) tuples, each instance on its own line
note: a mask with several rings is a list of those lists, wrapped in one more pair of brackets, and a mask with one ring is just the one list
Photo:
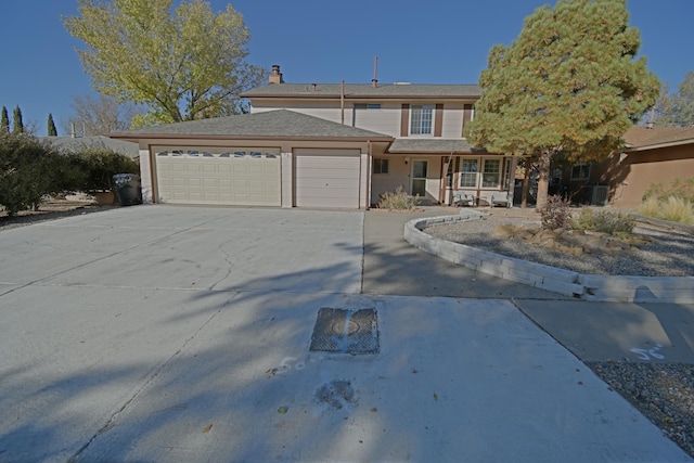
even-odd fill
[[(694, 305), (578, 301), (474, 272), (419, 252), (402, 237), (404, 223), (412, 219), (457, 214), (458, 208), (451, 207), (427, 207), (412, 214), (367, 213), (364, 293), (511, 299), (583, 361), (694, 364)], [(537, 218), (532, 210), (518, 208), (496, 208), (491, 214)]]

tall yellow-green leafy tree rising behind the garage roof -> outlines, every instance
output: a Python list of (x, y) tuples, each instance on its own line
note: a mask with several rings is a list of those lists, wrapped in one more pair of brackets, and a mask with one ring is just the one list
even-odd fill
[(64, 18), (94, 90), (146, 105), (136, 125), (236, 114), (239, 93), (264, 81), (246, 63), (248, 29), (231, 4), (215, 14), (203, 0), (78, 0)]

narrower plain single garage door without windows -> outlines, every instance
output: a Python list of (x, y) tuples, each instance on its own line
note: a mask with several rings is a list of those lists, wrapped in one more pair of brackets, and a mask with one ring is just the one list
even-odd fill
[(295, 150), (294, 205), (359, 208), (359, 150)]

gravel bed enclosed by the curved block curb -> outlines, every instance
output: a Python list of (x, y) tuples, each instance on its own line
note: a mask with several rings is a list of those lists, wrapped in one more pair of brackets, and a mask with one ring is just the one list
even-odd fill
[[(425, 232), (441, 240), (579, 273), (639, 276), (694, 275), (694, 235), (685, 232), (665, 230), (639, 222), (634, 233), (653, 239), (652, 243), (641, 246), (639, 250), (624, 252), (613, 256), (583, 254), (580, 257), (574, 257), (558, 250), (531, 246), (520, 240), (496, 237), (493, 231), (498, 223), (531, 224), (524, 222), (523, 219), (485, 216), (481, 219), (429, 227)], [(539, 222), (535, 223), (539, 224)]]

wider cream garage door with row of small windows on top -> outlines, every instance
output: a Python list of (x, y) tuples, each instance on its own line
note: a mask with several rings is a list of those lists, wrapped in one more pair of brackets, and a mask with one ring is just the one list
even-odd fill
[(155, 150), (160, 203), (280, 206), (280, 151)]

